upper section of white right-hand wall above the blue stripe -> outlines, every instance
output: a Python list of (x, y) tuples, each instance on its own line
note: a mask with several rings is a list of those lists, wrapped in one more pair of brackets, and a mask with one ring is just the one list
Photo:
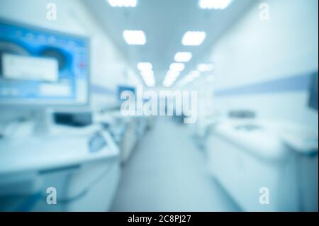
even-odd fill
[(318, 69), (318, 1), (269, 0), (269, 21), (256, 4), (213, 50), (216, 89)]

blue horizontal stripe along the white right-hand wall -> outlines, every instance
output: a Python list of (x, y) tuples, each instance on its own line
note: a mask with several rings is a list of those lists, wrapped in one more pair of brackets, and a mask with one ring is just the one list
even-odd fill
[[(318, 72), (316, 72), (318, 73)], [(215, 96), (265, 94), (284, 91), (305, 91), (310, 86), (311, 74), (302, 74), (283, 79), (264, 81), (258, 84), (250, 84), (232, 89), (223, 89), (215, 92)]]

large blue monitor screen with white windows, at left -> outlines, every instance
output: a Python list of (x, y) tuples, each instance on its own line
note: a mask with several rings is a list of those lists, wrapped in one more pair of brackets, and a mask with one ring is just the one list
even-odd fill
[(86, 38), (0, 21), (0, 103), (85, 104)]

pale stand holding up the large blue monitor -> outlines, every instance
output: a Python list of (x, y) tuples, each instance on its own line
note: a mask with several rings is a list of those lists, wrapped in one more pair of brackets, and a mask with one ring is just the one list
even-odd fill
[(50, 108), (41, 108), (33, 111), (34, 128), (33, 133), (35, 136), (49, 136), (53, 126), (53, 111)]

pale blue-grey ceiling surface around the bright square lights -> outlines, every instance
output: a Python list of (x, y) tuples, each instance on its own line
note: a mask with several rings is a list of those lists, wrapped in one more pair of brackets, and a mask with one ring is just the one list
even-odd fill
[[(208, 60), (206, 57), (220, 35), (255, 3), (233, 0), (224, 10), (208, 10), (200, 9), (198, 0), (138, 0), (135, 8), (113, 8), (106, 0), (83, 1), (136, 72), (138, 62), (153, 64), (157, 86), (162, 85), (176, 52), (193, 54), (181, 78), (198, 63)], [(123, 30), (143, 30), (147, 43), (127, 45)], [(181, 38), (188, 30), (205, 31), (206, 40), (200, 46), (182, 45)]]

